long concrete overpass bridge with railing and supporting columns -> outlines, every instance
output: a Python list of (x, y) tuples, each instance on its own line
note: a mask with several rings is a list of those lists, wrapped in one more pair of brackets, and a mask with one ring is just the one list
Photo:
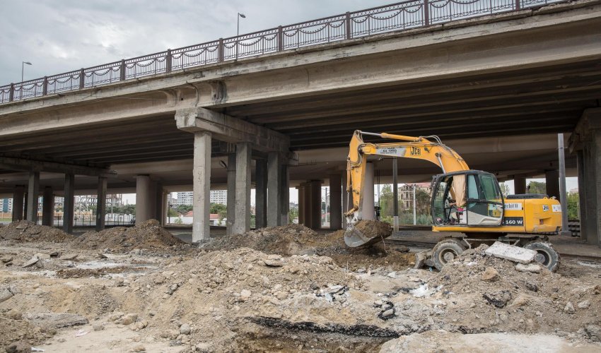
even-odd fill
[(233, 232), (250, 225), (252, 181), (257, 225), (287, 222), (291, 180), (305, 181), (315, 224), (319, 182), (306, 181), (341, 189), (355, 129), (436, 134), (516, 190), (556, 179), (566, 133), (583, 233), (598, 244), (600, 59), (598, 0), (416, 0), (83, 68), (0, 87), (0, 192), (135, 189), (141, 221), (163, 217), (163, 189), (192, 185), (197, 240), (211, 184), (235, 191)]

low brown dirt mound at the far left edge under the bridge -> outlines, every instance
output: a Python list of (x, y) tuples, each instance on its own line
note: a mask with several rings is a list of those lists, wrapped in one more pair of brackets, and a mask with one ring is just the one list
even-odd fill
[(22, 220), (0, 227), (0, 239), (63, 243), (73, 239), (73, 236), (57, 228), (35, 225), (33, 222)]

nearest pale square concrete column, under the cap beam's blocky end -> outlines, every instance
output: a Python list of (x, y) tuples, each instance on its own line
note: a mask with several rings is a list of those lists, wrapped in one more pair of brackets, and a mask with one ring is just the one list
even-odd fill
[(194, 218), (192, 221), (192, 241), (197, 242), (211, 237), (211, 133), (194, 133)]

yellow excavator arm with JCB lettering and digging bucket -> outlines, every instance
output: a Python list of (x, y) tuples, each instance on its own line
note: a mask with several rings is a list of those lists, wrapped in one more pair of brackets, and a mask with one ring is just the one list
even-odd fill
[[(378, 136), (402, 142), (365, 143), (363, 135)], [(349, 144), (349, 157), (346, 159), (346, 192), (353, 205), (346, 212), (349, 228), (346, 231), (346, 244), (360, 246), (368, 241), (354, 226), (363, 219), (363, 184), (365, 182), (367, 157), (380, 155), (428, 160), (443, 170), (443, 173), (469, 170), (463, 158), (440, 141), (437, 136), (402, 136), (391, 133), (368, 133), (356, 130)], [(371, 240), (371, 239), (369, 239)]]

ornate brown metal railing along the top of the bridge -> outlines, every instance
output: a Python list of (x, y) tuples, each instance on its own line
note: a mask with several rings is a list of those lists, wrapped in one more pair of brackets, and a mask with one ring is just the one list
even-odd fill
[(0, 86), (0, 103), (566, 0), (409, 0)]

